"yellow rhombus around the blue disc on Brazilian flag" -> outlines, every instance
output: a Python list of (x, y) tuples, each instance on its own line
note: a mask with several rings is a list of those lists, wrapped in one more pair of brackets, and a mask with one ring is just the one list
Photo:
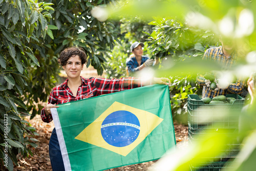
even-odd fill
[[(134, 114), (140, 123), (140, 126), (135, 125), (133, 123), (125, 123), (125, 122), (115, 122), (110, 124), (104, 124), (102, 125), (102, 122), (105, 120), (106, 117), (108, 117), (113, 112), (117, 111), (128, 111)], [(117, 116), (118, 117), (118, 116)], [(162, 122), (162, 118), (159, 118), (158, 116), (143, 111), (140, 109), (133, 108), (129, 105), (125, 105), (119, 102), (114, 102), (105, 112), (103, 112), (94, 122), (92, 122), (89, 126), (86, 127), (75, 139), (88, 142), (90, 144), (109, 149), (112, 152), (115, 152), (117, 154), (120, 154), (122, 156), (126, 156), (129, 154), (141, 141), (145, 139), (145, 137), (150, 134), (157, 125), (159, 125)], [(104, 138), (101, 135), (101, 130), (105, 127), (136, 127), (139, 131), (139, 135), (136, 137), (136, 140), (133, 141), (130, 145), (127, 146), (113, 146), (106, 142)], [(126, 137), (128, 138), (128, 137)], [(128, 139), (129, 140), (129, 139)], [(118, 141), (118, 139), (116, 139)]]

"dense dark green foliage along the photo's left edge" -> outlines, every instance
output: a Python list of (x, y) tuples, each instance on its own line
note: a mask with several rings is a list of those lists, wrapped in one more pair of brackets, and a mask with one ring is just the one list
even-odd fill
[(28, 144), (36, 146), (37, 140), (28, 135), (38, 134), (23, 120), (31, 115), (24, 99), (30, 84), (28, 68), (39, 67), (30, 44), (46, 37), (47, 19), (51, 17), (48, 11), (53, 11), (50, 5), (0, 1), (0, 158), (9, 170), (13, 169), (13, 162), (17, 164), (18, 153), (32, 155)]

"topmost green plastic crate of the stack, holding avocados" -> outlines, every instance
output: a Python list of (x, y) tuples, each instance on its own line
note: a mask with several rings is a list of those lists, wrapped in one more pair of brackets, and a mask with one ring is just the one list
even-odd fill
[(225, 103), (225, 104), (204, 104), (204, 102), (201, 100), (202, 98), (199, 98), (197, 94), (189, 94), (187, 95), (187, 105), (190, 110), (211, 110), (212, 107), (218, 105), (218, 108), (223, 110), (241, 110), (244, 105), (244, 98), (237, 94), (227, 94), (226, 97), (233, 97), (236, 100), (232, 104)]

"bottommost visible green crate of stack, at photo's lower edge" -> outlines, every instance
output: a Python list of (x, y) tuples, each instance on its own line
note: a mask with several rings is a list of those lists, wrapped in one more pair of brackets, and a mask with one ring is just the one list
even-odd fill
[[(226, 165), (226, 164), (231, 164), (231, 165)], [(199, 166), (193, 166), (189, 165), (189, 170), (190, 171), (223, 171), (232, 168), (232, 162), (205, 162), (205, 163), (200, 163)]]

